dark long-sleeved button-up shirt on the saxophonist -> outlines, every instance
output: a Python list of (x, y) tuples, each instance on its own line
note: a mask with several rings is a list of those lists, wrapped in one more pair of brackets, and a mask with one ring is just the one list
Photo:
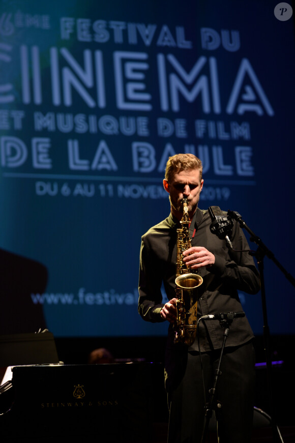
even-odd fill
[[(225, 213), (224, 213), (225, 214)], [(225, 214), (226, 215), (226, 214)], [(243, 311), (238, 290), (255, 294), (260, 289), (259, 273), (248, 252), (228, 249), (210, 231), (212, 220), (208, 211), (197, 209), (195, 235), (191, 246), (203, 246), (215, 255), (215, 263), (209, 268), (200, 268), (198, 274), (203, 283), (198, 287), (198, 317), (220, 312)], [(149, 229), (141, 238), (138, 312), (146, 321), (164, 321), (160, 311), (162, 283), (168, 297), (175, 297), (176, 274), (176, 229), (178, 221), (170, 214), (165, 220)], [(230, 240), (236, 251), (249, 250), (248, 242), (239, 225), (234, 222)], [(172, 334), (170, 325), (169, 331)], [(246, 317), (235, 318), (230, 327), (226, 346), (237, 346), (253, 338)], [(200, 350), (208, 351), (222, 346), (223, 331), (218, 320), (207, 320), (199, 325)], [(197, 340), (191, 349), (198, 350)]]

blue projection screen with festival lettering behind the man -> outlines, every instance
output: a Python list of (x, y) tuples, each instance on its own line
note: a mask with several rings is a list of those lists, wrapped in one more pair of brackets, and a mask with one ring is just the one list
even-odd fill
[[(175, 153), (203, 162), (200, 208), (239, 212), (294, 274), (291, 2), (0, 5), (2, 334), (166, 334), (137, 313), (138, 260)], [(269, 257), (264, 278), (271, 333), (294, 334), (294, 287)]]

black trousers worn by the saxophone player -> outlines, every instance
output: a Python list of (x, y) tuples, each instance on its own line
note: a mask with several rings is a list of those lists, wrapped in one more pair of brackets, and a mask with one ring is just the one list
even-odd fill
[[(213, 387), (219, 357), (220, 350), (202, 353), (201, 370), (198, 352), (190, 353), (184, 348), (167, 352), (168, 443), (201, 441), (204, 406), (209, 399), (209, 390)], [(221, 404), (221, 408), (216, 409), (219, 443), (249, 443), (253, 426), (255, 383), (252, 343), (226, 347), (220, 370), (214, 396)]]

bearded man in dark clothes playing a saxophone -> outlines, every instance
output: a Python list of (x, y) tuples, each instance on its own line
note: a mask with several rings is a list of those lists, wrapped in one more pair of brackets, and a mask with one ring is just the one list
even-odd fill
[[(249, 250), (239, 223), (233, 224), (230, 235), (233, 249), (229, 249), (225, 240), (211, 232), (209, 211), (198, 208), (203, 179), (201, 161), (197, 157), (192, 154), (170, 157), (163, 185), (169, 193), (171, 212), (142, 236), (138, 311), (146, 321), (169, 322), (165, 355), (168, 443), (199, 443), (204, 426), (204, 407), (223, 343), (223, 330), (219, 321), (200, 321), (198, 336), (193, 343), (185, 340), (175, 343), (179, 298), (178, 288), (175, 292), (176, 243), (184, 217), (183, 201), (187, 203), (190, 219), (190, 244), (183, 250), (183, 263), (190, 273), (201, 277), (196, 289), (197, 304), (194, 305), (198, 318), (243, 311), (238, 290), (251, 294), (258, 292), (259, 273), (253, 258), (247, 252), (238, 252)], [(165, 304), (162, 303), (162, 284), (169, 300)], [(220, 411), (216, 410), (219, 443), (249, 443), (251, 440), (255, 377), (253, 337), (246, 317), (234, 319), (215, 393), (221, 405)]]

